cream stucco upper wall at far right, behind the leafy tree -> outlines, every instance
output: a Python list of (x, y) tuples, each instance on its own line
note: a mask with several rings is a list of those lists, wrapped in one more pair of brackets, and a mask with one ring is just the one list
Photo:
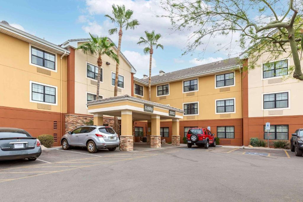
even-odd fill
[[(289, 53), (284, 53), (277, 61), (285, 59)], [(248, 74), (248, 116), (249, 117), (267, 117), (267, 116), (290, 116), (290, 115), (302, 115), (302, 89), (303, 82), (292, 77), (292, 73), (289, 72), (288, 76), (266, 78), (262, 80), (263, 74), (263, 62), (268, 60), (268, 54), (264, 54), (257, 62), (258, 67), (251, 70)], [(248, 59), (249, 62), (249, 59)], [(288, 58), (288, 67), (293, 66), (294, 62), (292, 58)], [(303, 62), (301, 62), (303, 67)], [(280, 78), (282, 82), (268, 83)], [(269, 111), (280, 110), (279, 108), (271, 110), (262, 110), (262, 93), (290, 91), (289, 104), (290, 109), (284, 109), (283, 114), (269, 115)]]

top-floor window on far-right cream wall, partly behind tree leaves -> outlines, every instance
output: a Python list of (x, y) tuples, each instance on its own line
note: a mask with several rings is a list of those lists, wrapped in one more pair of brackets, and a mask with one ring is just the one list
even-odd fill
[(288, 75), (288, 61), (282, 60), (263, 65), (263, 78)]

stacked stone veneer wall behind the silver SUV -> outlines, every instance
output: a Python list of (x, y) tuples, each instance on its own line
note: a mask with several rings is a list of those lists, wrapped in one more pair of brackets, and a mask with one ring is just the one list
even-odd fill
[[(65, 115), (65, 133), (74, 130), (76, 127), (85, 125), (88, 121), (90, 120), (93, 121), (93, 119), (94, 119), (93, 116), (67, 114)], [(115, 128), (113, 118), (103, 118), (103, 124), (107, 124), (108, 126)], [(119, 124), (118, 134), (120, 134), (121, 120), (118, 120), (118, 124)]]

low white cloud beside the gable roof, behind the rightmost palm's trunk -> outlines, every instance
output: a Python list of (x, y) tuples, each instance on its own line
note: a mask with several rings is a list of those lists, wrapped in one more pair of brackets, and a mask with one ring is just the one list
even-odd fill
[[(143, 74), (149, 74), (149, 54), (144, 55), (135, 51), (123, 51), (125, 57), (132, 63), (137, 70), (136, 77), (142, 78)], [(152, 58), (151, 69), (156, 67), (156, 60)]]

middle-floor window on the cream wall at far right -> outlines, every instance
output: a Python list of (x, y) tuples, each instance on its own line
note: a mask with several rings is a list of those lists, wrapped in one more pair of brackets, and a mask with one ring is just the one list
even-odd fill
[(264, 109), (288, 108), (288, 92), (264, 94)]

